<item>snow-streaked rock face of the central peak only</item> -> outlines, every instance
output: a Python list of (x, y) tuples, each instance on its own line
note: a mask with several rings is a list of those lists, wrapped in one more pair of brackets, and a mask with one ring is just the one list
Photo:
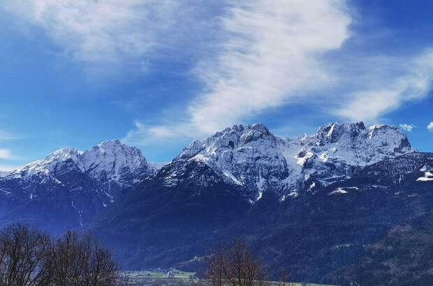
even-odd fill
[(224, 180), (249, 189), (254, 201), (264, 190), (279, 188), (293, 172), (281, 152), (283, 144), (262, 124), (233, 126), (196, 140), (173, 162), (209, 165)]

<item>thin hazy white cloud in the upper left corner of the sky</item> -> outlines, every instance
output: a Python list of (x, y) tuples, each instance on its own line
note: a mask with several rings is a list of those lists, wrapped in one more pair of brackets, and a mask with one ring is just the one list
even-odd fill
[(168, 0), (5, 0), (0, 7), (36, 27), (75, 59), (137, 60), (173, 24), (178, 2)]

